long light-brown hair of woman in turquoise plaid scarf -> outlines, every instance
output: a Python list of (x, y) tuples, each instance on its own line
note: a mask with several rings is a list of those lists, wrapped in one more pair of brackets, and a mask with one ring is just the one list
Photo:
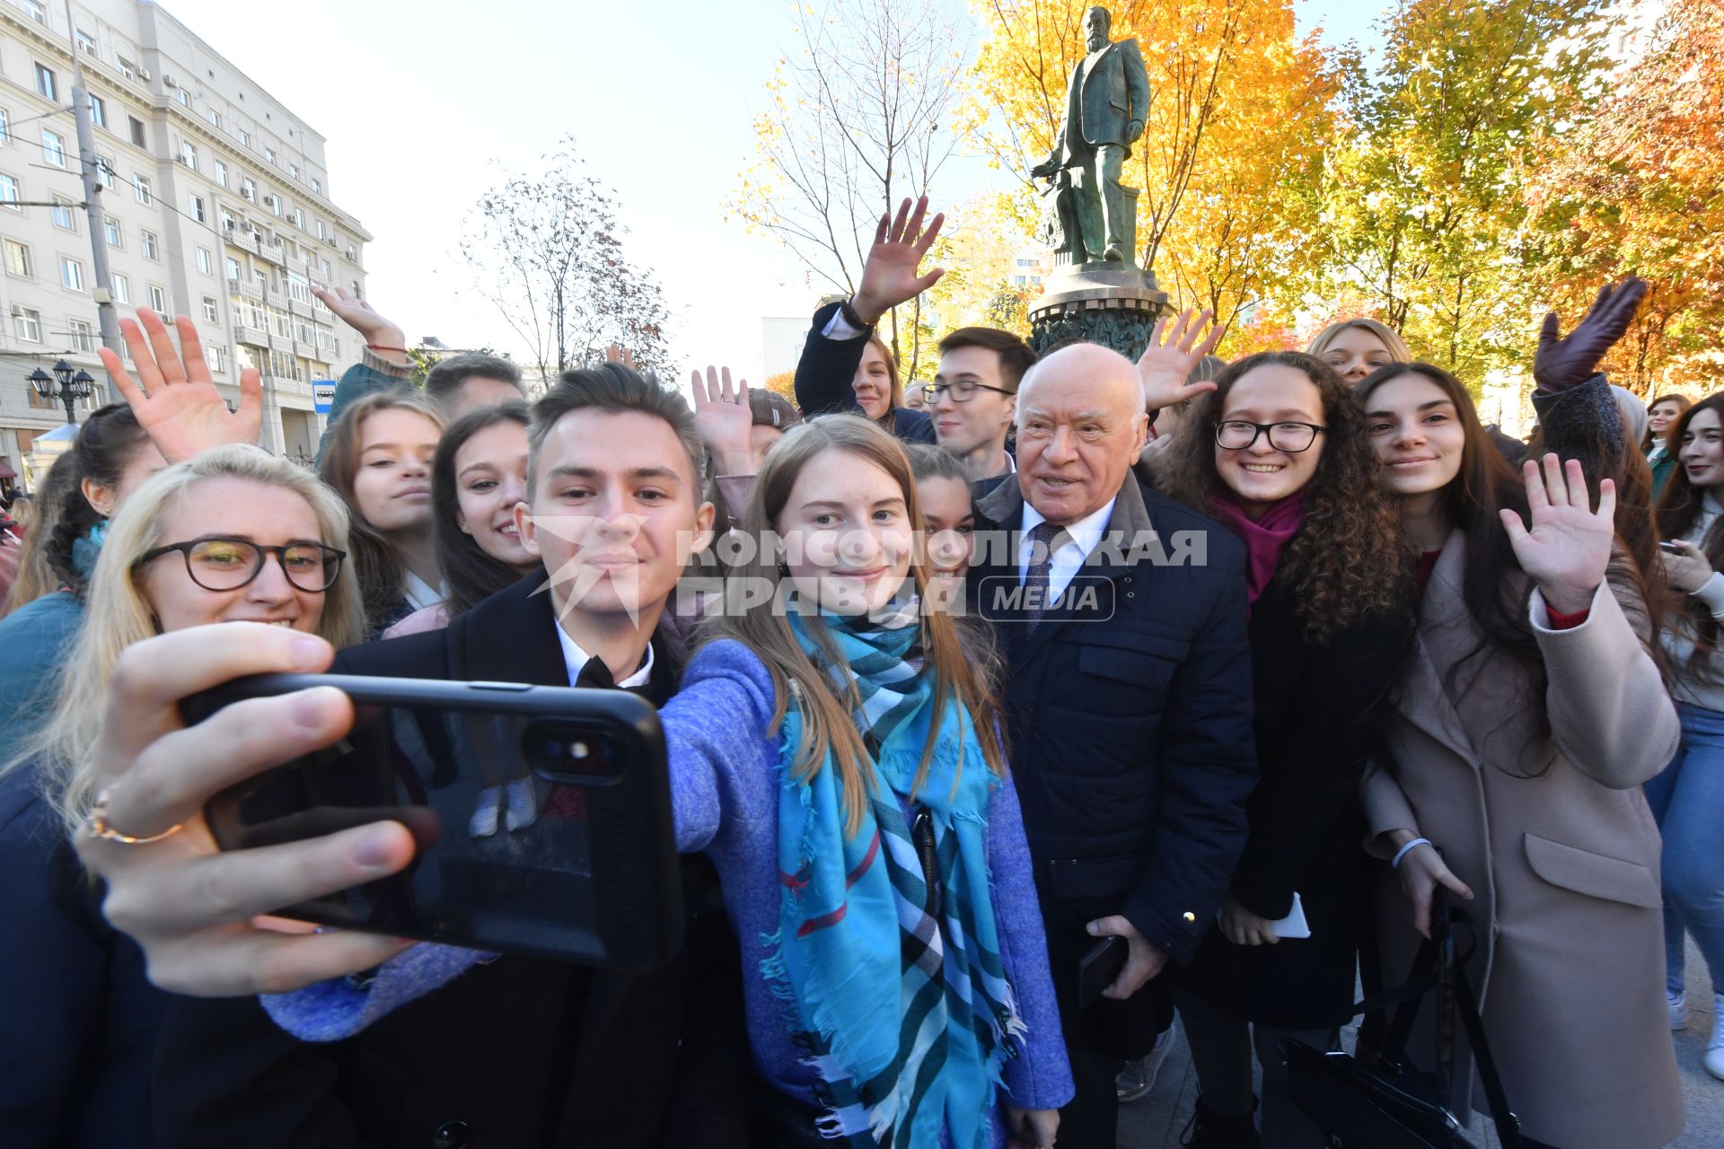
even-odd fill
[[(853, 835), (862, 825), (862, 815), (869, 804), (869, 775), (864, 765), (869, 758), (852, 717), (860, 706), (860, 693), (855, 680), (848, 679), (848, 691), (840, 694), (833, 677), (802, 649), (796, 634), (790, 627), (784, 610), (781, 582), (788, 582), (779, 570), (776, 553), (764, 548), (764, 539), (778, 529), (778, 520), (790, 501), (791, 488), (805, 467), (829, 451), (848, 455), (845, 460), (824, 460), (824, 465), (867, 465), (891, 475), (903, 493), (905, 508), (912, 525), (921, 531), (922, 510), (915, 500), (915, 479), (910, 477), (910, 460), (903, 453), (898, 439), (860, 415), (821, 415), (800, 427), (795, 427), (772, 448), (760, 467), (748, 506), (743, 510), (743, 531), (752, 537), (755, 556), (745, 563), (736, 575), (743, 579), (740, 586), (750, 589), (771, 587), (772, 596), (746, 610), (728, 608), (707, 622), (707, 639), (729, 637), (752, 649), (765, 663), (772, 675), (774, 708), (767, 727), (769, 737), (778, 737), (783, 729), (784, 711), (790, 706), (791, 684), (796, 687), (802, 708), (802, 744), (796, 746), (795, 765), (798, 779), (812, 779), (824, 765), (828, 749), (838, 767), (840, 787), (845, 803), (845, 832)], [(910, 579), (922, 601), (928, 601), (928, 572), (922, 555), (917, 550), (910, 562)], [(755, 596), (764, 599), (765, 596)], [(795, 606), (790, 606), (795, 610)], [(943, 612), (926, 612), (921, 617), (921, 644), (926, 658), (926, 674), (934, 675), (934, 711), (943, 713), (950, 701), (962, 703), (969, 710), (976, 727), (976, 741), (981, 746), (984, 765), (996, 775), (1005, 773), (1005, 746), (1000, 739), (1000, 711), (990, 682), (990, 660), (978, 658), (976, 651), (960, 637), (957, 622)], [(828, 663), (845, 667), (845, 658), (836, 644), (828, 637), (824, 627), (810, 627), (809, 634), (821, 648)], [(922, 746), (922, 763), (917, 770), (912, 794), (921, 791), (928, 779), (928, 765), (938, 744), (940, 724), (929, 729), (928, 742)], [(962, 768), (962, 763), (960, 763)]]

